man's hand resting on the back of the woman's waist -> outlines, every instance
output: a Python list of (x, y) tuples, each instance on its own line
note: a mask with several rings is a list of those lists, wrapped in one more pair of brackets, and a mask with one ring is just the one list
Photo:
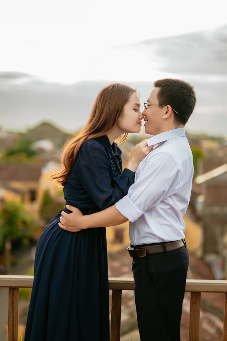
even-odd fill
[(66, 205), (66, 208), (72, 213), (66, 213), (62, 211), (62, 216), (60, 217), (60, 223), (59, 226), (66, 231), (70, 232), (78, 232), (83, 229), (81, 224), (81, 219), (83, 217), (83, 214), (81, 213), (78, 208), (70, 205)]

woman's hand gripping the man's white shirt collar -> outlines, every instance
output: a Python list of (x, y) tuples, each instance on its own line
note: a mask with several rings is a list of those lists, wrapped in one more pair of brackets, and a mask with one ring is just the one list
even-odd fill
[(126, 168), (135, 172), (139, 163), (147, 156), (147, 154), (149, 154), (153, 147), (154, 146), (147, 145), (147, 140), (142, 140), (140, 143), (137, 143), (132, 151)]

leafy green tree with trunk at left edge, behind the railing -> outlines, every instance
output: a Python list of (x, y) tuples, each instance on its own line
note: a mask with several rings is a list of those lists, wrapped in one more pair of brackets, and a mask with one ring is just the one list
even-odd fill
[(22, 245), (28, 242), (37, 227), (35, 219), (15, 202), (6, 203), (0, 211), (0, 249), (5, 252), (6, 271), (10, 271), (12, 242)]

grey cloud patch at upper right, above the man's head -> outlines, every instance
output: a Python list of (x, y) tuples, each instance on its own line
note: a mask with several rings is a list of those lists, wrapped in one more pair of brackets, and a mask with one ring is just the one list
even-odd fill
[(214, 31), (181, 34), (140, 44), (148, 54), (155, 51), (160, 71), (227, 75), (227, 25)]

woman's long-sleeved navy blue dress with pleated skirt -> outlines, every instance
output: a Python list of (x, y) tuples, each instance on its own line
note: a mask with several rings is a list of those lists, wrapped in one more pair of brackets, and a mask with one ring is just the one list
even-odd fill
[[(106, 135), (85, 142), (67, 176), (65, 200), (88, 214), (126, 195), (135, 173), (122, 172), (120, 154)], [(68, 232), (59, 227), (60, 216), (37, 243), (24, 341), (108, 341), (106, 228)]]

